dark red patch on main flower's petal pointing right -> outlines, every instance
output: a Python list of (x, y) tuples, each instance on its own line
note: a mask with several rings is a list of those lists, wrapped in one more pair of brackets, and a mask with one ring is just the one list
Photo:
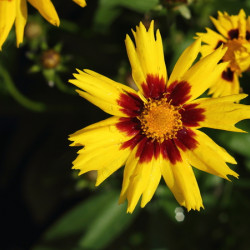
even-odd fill
[(198, 104), (187, 104), (179, 111), (184, 126), (197, 127), (199, 122), (205, 120), (205, 109), (196, 108)]

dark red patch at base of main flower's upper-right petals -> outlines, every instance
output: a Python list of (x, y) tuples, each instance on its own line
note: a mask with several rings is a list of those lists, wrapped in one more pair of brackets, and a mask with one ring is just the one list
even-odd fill
[(172, 100), (171, 104), (174, 106), (181, 105), (185, 103), (191, 95), (189, 95), (191, 90), (191, 85), (186, 81), (173, 82), (167, 89), (169, 93), (168, 100)]

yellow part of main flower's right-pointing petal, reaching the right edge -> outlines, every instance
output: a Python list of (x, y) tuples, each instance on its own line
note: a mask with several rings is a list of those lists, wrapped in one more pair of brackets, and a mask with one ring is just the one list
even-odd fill
[(244, 132), (236, 128), (235, 124), (244, 119), (250, 119), (250, 107), (236, 104), (246, 94), (231, 95), (219, 98), (202, 98), (196, 103), (204, 109), (205, 120), (200, 122), (201, 127), (222, 129), (234, 132)]

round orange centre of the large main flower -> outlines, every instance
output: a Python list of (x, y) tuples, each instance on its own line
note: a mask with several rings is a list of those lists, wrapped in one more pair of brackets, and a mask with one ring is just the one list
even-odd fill
[(180, 109), (181, 106), (176, 107), (167, 102), (166, 97), (149, 99), (138, 117), (142, 133), (158, 142), (176, 138), (177, 131), (182, 129)]

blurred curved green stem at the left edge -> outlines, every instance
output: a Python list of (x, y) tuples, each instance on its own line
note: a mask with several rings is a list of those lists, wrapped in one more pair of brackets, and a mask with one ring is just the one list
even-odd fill
[(33, 111), (42, 112), (45, 110), (45, 105), (43, 103), (34, 102), (19, 92), (9, 73), (2, 66), (0, 66), (0, 75), (3, 78), (3, 82), (6, 85), (8, 92), (18, 103)]

